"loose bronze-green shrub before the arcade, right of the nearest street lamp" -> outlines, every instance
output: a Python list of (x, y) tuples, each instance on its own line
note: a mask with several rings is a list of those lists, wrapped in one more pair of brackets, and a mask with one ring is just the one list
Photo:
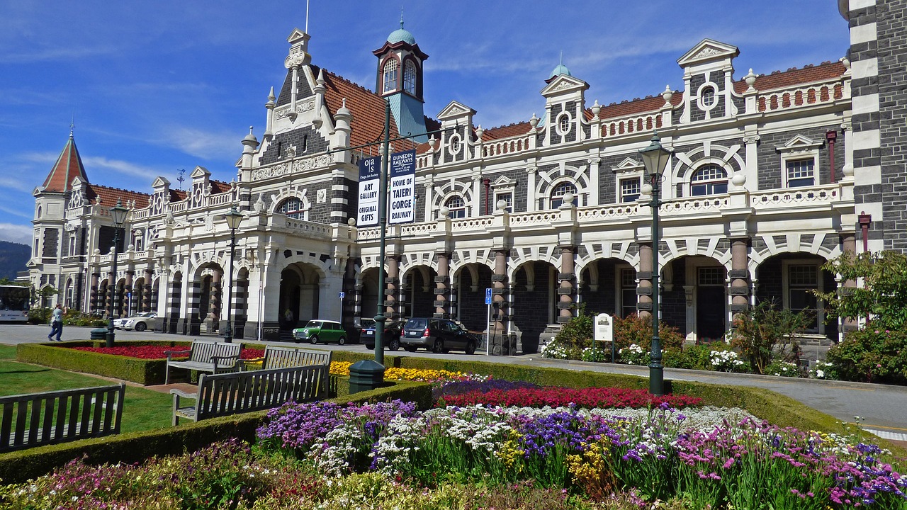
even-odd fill
[(773, 359), (795, 362), (800, 345), (795, 335), (803, 332), (810, 318), (804, 312), (776, 309), (771, 301), (761, 301), (747, 313), (737, 315), (731, 345), (753, 366), (765, 374)]

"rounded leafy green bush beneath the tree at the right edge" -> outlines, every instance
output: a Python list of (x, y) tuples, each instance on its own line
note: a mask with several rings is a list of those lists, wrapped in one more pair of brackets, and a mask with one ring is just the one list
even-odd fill
[(831, 372), (846, 381), (907, 383), (907, 331), (877, 329), (851, 331), (844, 341), (828, 349), (825, 360)]

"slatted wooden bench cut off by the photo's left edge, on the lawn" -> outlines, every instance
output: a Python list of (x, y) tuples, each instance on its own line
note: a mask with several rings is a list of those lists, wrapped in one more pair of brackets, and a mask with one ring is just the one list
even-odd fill
[(0, 452), (120, 433), (126, 384), (0, 397)]

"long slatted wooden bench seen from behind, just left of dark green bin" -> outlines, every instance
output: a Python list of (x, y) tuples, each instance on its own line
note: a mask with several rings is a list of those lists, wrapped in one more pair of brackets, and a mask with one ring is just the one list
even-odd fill
[[(293, 400), (307, 402), (327, 396), (329, 367), (271, 368), (230, 374), (202, 374), (196, 393), (171, 389), (173, 396), (173, 425), (180, 418), (199, 421), (278, 407)], [(195, 404), (180, 406), (180, 398), (194, 398)]]

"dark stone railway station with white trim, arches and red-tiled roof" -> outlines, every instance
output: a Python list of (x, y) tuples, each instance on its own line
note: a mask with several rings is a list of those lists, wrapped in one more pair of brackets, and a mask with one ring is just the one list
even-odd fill
[[(820, 266), (907, 250), (907, 2), (838, 9), (851, 47), (832, 62), (736, 74), (738, 49), (704, 39), (665, 70), (679, 90), (610, 105), (590, 103), (589, 84), (559, 65), (540, 82), (539, 116), (527, 106), (525, 122), (484, 129), (455, 100), (424, 114), (424, 95), (441, 91), (424, 90), (428, 55), (402, 23), (375, 50), (367, 89), (318, 67), (293, 30), (286, 79), (260, 135), (242, 139), (232, 181), (197, 167), (187, 191), (163, 177), (150, 192), (96, 184), (70, 136), (34, 190), (31, 282), (71, 308), (105, 313), (112, 299), (115, 315), (156, 310), (159, 329), (198, 335), (224, 328), (231, 270), (237, 338), (286, 338), (308, 319), (353, 325), (380, 297), (391, 317), (451, 317), (534, 352), (580, 307), (650, 313), (658, 270), (661, 317), (688, 341), (723, 338), (764, 299), (814, 310), (812, 333), (838, 338), (846, 325), (825, 323), (810, 290), (854, 282)], [(394, 143), (416, 151), (416, 212), (386, 230), (378, 289), (379, 231), (355, 224), (368, 152), (344, 149), (382, 138), (385, 101), (392, 138), (420, 135)], [(639, 157), (653, 130), (674, 151), (657, 247)], [(117, 201), (130, 213), (112, 274)], [(229, 268), (233, 206), (243, 219)]]

